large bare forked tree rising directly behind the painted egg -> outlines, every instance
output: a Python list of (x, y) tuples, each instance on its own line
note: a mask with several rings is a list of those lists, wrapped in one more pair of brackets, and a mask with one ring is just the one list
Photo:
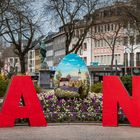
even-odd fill
[[(65, 33), (66, 54), (78, 52), (94, 22), (92, 14), (98, 2), (99, 0), (46, 0), (45, 14), (51, 15), (56, 25), (60, 23), (61, 30)], [(75, 46), (70, 48), (76, 29), (82, 29), (82, 33), (76, 36)]]

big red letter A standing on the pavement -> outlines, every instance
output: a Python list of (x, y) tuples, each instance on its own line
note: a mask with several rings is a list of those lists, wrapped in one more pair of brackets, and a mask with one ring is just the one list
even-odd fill
[[(23, 98), (24, 106), (19, 106)], [(0, 127), (12, 127), (17, 118), (28, 118), (30, 126), (46, 126), (46, 120), (29, 76), (14, 76), (0, 113)]]

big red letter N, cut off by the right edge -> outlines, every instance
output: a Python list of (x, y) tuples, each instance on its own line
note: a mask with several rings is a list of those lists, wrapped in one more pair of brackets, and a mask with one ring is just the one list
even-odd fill
[(103, 80), (103, 126), (118, 125), (118, 105), (132, 126), (140, 126), (140, 76), (132, 78), (132, 96), (117, 76)]

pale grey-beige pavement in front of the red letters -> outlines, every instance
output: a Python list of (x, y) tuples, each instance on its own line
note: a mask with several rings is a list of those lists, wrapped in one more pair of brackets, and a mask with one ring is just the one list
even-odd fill
[(0, 128), (0, 140), (139, 140), (140, 128), (62, 124), (48, 127)]

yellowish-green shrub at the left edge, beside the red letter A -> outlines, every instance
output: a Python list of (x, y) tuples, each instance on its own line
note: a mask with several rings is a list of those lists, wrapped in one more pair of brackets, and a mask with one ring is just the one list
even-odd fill
[(3, 97), (6, 94), (8, 88), (9, 80), (0, 75), (0, 97)]

